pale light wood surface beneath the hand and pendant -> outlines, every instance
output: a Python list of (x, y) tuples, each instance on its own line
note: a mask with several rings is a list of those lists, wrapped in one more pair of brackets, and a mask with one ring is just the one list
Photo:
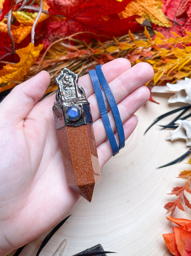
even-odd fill
[[(190, 169), (190, 165), (181, 162), (162, 169), (157, 167), (174, 160), (188, 148), (181, 140), (165, 141), (169, 131), (160, 131), (158, 125), (143, 136), (156, 117), (180, 106), (167, 103), (170, 95), (154, 94), (160, 104), (148, 102), (139, 109), (137, 128), (125, 148), (102, 168), (102, 179), (92, 202), (83, 198), (78, 202), (71, 211), (72, 216), (54, 234), (40, 256), (52, 256), (65, 238), (65, 256), (98, 243), (106, 251), (118, 252), (119, 256), (171, 255), (162, 234), (171, 232), (173, 225), (166, 220), (163, 206), (175, 200), (176, 196), (167, 193), (172, 187), (184, 184), (185, 180), (175, 177), (180, 171)], [(170, 120), (172, 117), (159, 124)], [(184, 162), (188, 159), (189, 156)], [(191, 199), (191, 195), (188, 198)], [(191, 218), (191, 210), (176, 210), (175, 217)], [(20, 256), (35, 256), (46, 234), (30, 242)]]

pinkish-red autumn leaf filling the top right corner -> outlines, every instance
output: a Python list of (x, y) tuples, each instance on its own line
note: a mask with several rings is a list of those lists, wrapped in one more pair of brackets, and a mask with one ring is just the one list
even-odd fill
[(172, 32), (178, 36), (184, 37), (186, 30), (191, 31), (191, 0), (163, 0), (162, 12), (169, 18), (172, 27), (157, 27), (153, 25), (158, 32), (161, 32), (166, 38), (175, 37)]

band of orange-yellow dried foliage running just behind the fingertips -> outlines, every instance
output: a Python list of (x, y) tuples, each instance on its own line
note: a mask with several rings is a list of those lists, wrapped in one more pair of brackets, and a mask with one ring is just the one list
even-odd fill
[[(151, 39), (148, 30), (144, 34), (129, 34), (120, 38), (101, 43), (94, 41), (87, 44), (77, 41), (78, 45), (71, 45), (66, 39), (58, 40), (50, 46), (41, 58), (37, 67), (33, 67), (28, 74), (29, 77), (41, 69), (47, 69), (53, 76), (68, 66), (74, 72), (84, 74), (95, 64), (104, 64), (118, 57), (128, 58), (132, 65), (139, 62), (152, 64), (154, 77), (152, 85), (175, 82), (182, 77), (191, 77), (191, 33), (187, 32), (186, 37), (165, 39), (158, 32), (155, 32), (155, 39)], [(73, 36), (70, 37), (71, 40)], [(180, 49), (177, 45), (183, 46)], [(168, 46), (168, 48), (167, 48)], [(53, 81), (52, 81), (53, 82)], [(151, 83), (150, 83), (151, 84)], [(49, 90), (51, 90), (49, 88)]]

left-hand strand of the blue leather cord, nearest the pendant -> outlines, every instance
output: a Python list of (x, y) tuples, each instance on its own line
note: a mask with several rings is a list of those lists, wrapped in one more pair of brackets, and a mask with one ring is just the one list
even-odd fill
[(118, 148), (118, 144), (115, 140), (113, 130), (111, 128), (111, 124), (110, 124), (109, 117), (108, 117), (108, 112), (105, 107), (104, 97), (101, 92), (100, 82), (97, 78), (97, 75), (96, 75), (96, 72), (94, 69), (88, 71), (88, 73), (90, 75), (92, 84), (94, 86), (97, 104), (100, 109), (101, 118), (104, 123), (105, 131), (108, 136), (108, 140), (111, 145), (111, 149), (113, 151), (113, 156), (115, 156), (119, 152), (119, 148)]

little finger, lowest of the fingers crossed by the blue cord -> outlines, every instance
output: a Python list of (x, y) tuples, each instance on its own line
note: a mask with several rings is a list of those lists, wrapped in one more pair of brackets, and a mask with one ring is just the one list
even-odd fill
[[(137, 126), (138, 119), (136, 116), (130, 117), (124, 124), (124, 134), (125, 140), (129, 138), (129, 136), (133, 133), (135, 127)], [(117, 133), (114, 134), (115, 138), (117, 138)], [(110, 147), (109, 140), (105, 140), (97, 147), (97, 154), (100, 163), (100, 167), (102, 168), (105, 163), (113, 156), (113, 151)]]

